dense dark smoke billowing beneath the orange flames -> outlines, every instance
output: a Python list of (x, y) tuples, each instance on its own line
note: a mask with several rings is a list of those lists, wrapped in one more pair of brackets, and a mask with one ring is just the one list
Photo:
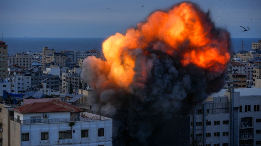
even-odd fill
[[(228, 33), (211, 31), (217, 34), (211, 37), (229, 44)], [(193, 47), (190, 40), (184, 40), (179, 49), (167, 53), (163, 50), (172, 46), (154, 40), (142, 48), (123, 48), (135, 60), (135, 74), (127, 90), (108, 82), (110, 66), (106, 61), (93, 56), (84, 60), (81, 77), (95, 92), (95, 109), (113, 115), (114, 146), (189, 143), (186, 116), (193, 106), (222, 89), (226, 72), (193, 63), (184, 66), (181, 60)]]

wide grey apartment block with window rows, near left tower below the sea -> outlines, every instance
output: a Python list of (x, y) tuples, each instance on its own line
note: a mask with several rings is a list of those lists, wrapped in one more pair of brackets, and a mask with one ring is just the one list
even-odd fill
[(15, 56), (8, 56), (9, 64), (17, 64), (18, 66), (24, 66), (27, 69), (32, 67), (32, 56), (28, 56), (23, 52), (16, 53)]

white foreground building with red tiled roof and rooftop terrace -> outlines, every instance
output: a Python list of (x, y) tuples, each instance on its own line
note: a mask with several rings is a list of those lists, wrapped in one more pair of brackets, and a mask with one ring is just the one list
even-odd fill
[(31, 103), (13, 111), (11, 145), (112, 146), (112, 119), (62, 101)]

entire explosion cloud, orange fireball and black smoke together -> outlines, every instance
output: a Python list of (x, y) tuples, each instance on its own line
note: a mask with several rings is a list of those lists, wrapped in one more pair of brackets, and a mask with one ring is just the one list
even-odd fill
[(96, 110), (114, 115), (113, 145), (155, 145), (168, 136), (159, 131), (170, 119), (223, 87), (229, 45), (229, 33), (191, 3), (110, 36), (106, 61), (86, 58), (81, 77), (95, 92)]

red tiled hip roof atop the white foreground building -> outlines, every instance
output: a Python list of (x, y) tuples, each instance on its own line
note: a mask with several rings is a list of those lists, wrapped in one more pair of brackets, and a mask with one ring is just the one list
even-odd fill
[(13, 109), (20, 113), (33, 113), (33, 112), (81, 112), (80, 108), (66, 104), (62, 101), (54, 99), (48, 102), (34, 102), (25, 106), (20, 106)]

